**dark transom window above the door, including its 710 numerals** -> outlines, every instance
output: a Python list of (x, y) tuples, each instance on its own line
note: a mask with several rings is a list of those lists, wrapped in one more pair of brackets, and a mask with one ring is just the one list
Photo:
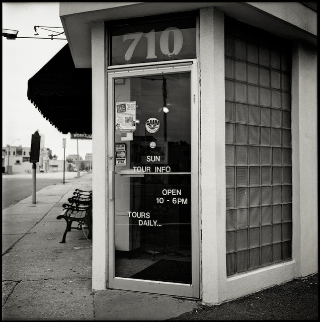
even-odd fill
[(108, 24), (109, 66), (196, 58), (196, 13)]

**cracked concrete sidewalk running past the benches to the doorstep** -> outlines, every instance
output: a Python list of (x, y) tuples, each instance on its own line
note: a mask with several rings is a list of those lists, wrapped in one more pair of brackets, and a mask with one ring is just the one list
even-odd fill
[(166, 320), (201, 306), (137, 292), (92, 292), (92, 243), (56, 217), (92, 174), (46, 187), (3, 210), (3, 320)]

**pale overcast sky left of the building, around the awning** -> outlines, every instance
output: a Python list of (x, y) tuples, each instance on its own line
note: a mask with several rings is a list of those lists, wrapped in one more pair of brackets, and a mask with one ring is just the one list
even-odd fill
[[(47, 37), (50, 31), (34, 26), (62, 27), (59, 3), (2, 3), (3, 28), (19, 30), (18, 37)], [(50, 28), (49, 28), (50, 29)], [(60, 37), (59, 38), (64, 38)], [(62, 138), (66, 138), (65, 155), (76, 154), (76, 140), (62, 134), (28, 100), (28, 80), (41, 69), (66, 43), (66, 40), (24, 39), (8, 40), (3, 44), (3, 138), (2, 146), (30, 147), (31, 135), (39, 131), (44, 145), (63, 159)], [(16, 140), (19, 139), (19, 140)], [(79, 155), (92, 153), (92, 140), (78, 140)]]

